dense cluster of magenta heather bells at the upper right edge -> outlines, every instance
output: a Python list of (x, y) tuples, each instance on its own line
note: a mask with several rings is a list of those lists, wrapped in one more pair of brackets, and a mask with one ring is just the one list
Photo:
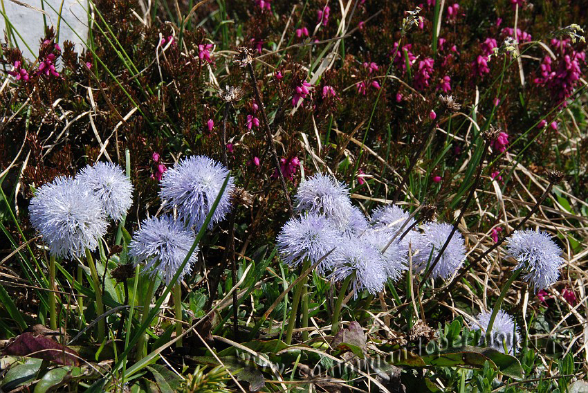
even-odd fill
[(569, 39), (562, 41), (552, 39), (551, 45), (559, 49), (557, 57), (555, 60), (552, 60), (549, 55), (543, 58), (540, 66), (541, 76), (536, 77), (533, 82), (546, 87), (555, 102), (565, 106), (565, 100), (573, 93), (582, 75), (582, 66), (586, 63), (586, 53), (584, 51), (576, 52)]

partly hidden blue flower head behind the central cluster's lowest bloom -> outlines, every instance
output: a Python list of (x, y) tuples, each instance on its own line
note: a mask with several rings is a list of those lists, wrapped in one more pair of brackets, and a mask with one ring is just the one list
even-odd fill
[(385, 262), (386, 277), (392, 281), (396, 281), (401, 277), (402, 272), (408, 269), (408, 250), (405, 244), (397, 239), (394, 239), (390, 243), (393, 236), (387, 230), (370, 228), (360, 236), (360, 239), (367, 241), (382, 253)]

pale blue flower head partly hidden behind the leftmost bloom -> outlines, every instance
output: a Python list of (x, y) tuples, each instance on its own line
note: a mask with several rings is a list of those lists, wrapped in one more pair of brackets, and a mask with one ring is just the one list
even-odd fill
[(133, 185), (120, 166), (102, 162), (86, 165), (76, 179), (100, 199), (102, 209), (111, 219), (122, 219), (131, 208)]

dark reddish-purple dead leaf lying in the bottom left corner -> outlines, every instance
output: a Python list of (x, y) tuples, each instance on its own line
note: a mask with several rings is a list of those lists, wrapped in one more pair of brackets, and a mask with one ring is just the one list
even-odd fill
[(35, 336), (33, 333), (22, 333), (15, 338), (4, 349), (4, 354), (30, 356), (32, 358), (50, 360), (59, 365), (77, 366), (80, 364), (77, 358), (77, 352), (73, 349), (61, 345), (48, 337), (42, 335)]

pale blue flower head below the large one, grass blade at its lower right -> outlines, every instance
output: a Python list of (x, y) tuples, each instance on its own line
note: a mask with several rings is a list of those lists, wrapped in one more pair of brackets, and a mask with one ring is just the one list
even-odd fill
[[(196, 241), (194, 232), (185, 228), (182, 221), (174, 220), (169, 215), (151, 217), (145, 219), (140, 230), (135, 232), (129, 244), (129, 255), (134, 257), (135, 264), (147, 262), (144, 272), (151, 276), (160, 275), (165, 284), (169, 284), (184, 262), (194, 241)], [(190, 255), (190, 259), (178, 277), (178, 282), (192, 271), (197, 253), (198, 247)]]

